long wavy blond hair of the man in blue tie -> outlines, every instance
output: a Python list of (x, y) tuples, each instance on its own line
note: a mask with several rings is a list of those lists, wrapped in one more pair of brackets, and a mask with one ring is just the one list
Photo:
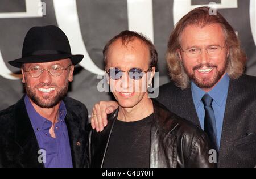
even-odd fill
[(226, 37), (226, 45), (229, 47), (229, 56), (227, 64), (227, 73), (231, 79), (240, 77), (243, 73), (246, 63), (245, 53), (242, 51), (240, 41), (234, 32), (233, 27), (226, 19), (217, 12), (216, 15), (209, 15), (209, 7), (198, 7), (183, 16), (175, 25), (174, 31), (168, 41), (168, 50), (166, 55), (167, 65), (171, 80), (181, 89), (190, 86), (190, 79), (184, 71), (183, 64), (180, 61), (178, 49), (180, 48), (180, 36), (188, 25), (198, 25), (205, 27), (213, 23), (221, 25)]

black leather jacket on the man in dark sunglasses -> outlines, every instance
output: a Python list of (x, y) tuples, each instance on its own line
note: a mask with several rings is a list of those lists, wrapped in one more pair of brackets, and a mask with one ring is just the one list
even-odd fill
[[(153, 100), (150, 167), (216, 167), (209, 163), (209, 139), (200, 127), (171, 113)], [(102, 167), (118, 109), (108, 116), (108, 126), (101, 133), (90, 131), (88, 167)]]

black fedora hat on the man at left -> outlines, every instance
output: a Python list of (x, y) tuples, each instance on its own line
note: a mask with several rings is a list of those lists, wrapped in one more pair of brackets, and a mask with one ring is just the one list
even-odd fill
[(9, 61), (20, 68), (23, 63), (43, 63), (60, 59), (71, 59), (73, 65), (79, 63), (83, 55), (71, 54), (68, 37), (54, 25), (32, 27), (24, 39), (22, 58)]

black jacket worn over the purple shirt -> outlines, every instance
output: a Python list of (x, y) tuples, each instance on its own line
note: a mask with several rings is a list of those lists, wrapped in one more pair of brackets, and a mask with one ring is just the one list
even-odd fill
[[(67, 108), (65, 122), (68, 129), (73, 167), (86, 163), (85, 147), (88, 132), (88, 112), (84, 104), (69, 97), (64, 98)], [(0, 112), (0, 167), (44, 167), (38, 162), (39, 146), (24, 97)]]

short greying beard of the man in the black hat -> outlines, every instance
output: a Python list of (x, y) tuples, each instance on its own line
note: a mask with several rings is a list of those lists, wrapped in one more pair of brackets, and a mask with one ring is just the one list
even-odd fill
[(40, 83), (36, 85), (34, 88), (31, 88), (30, 86), (27, 85), (27, 83), (24, 83), (24, 88), (26, 90), (27, 96), (40, 108), (53, 108), (53, 106), (56, 106), (58, 103), (60, 103), (61, 100), (64, 99), (64, 97), (68, 93), (68, 80), (65, 82), (64, 86), (60, 88), (59, 90), (56, 91), (57, 95), (55, 96), (38, 96), (36, 95), (36, 87), (52, 87), (56, 85), (53, 84), (45, 84), (45, 83)]

